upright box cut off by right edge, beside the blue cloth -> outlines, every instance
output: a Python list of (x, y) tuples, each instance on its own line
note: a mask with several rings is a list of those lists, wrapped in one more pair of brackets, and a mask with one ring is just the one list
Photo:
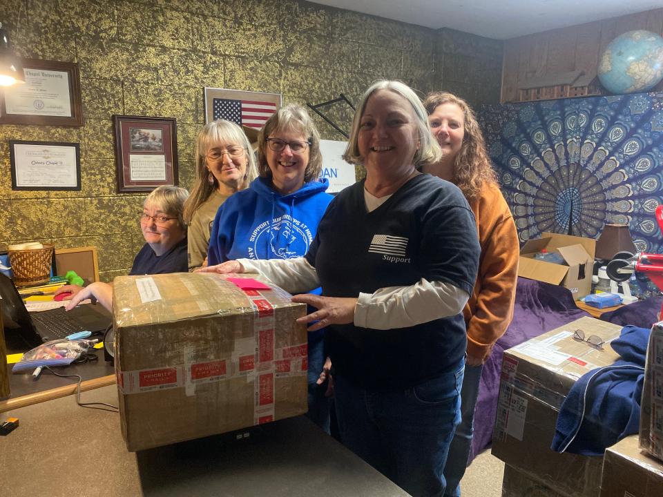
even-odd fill
[(640, 404), (640, 447), (663, 460), (663, 322), (649, 334)]

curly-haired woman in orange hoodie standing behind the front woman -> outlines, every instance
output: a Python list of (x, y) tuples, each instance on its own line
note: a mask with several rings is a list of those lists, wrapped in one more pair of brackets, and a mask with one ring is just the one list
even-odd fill
[(448, 92), (432, 92), (423, 102), (430, 128), (442, 147), (440, 162), (425, 173), (456, 184), (474, 213), (481, 244), (479, 275), (463, 309), (468, 329), (461, 424), (444, 468), (445, 496), (460, 496), (472, 444), (472, 422), (483, 363), (513, 316), (519, 243), (509, 207), (499, 190), (477, 118), (467, 102)]

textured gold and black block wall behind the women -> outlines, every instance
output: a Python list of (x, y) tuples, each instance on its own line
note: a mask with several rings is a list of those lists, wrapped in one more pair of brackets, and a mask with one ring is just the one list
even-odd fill
[[(499, 101), (501, 42), (305, 1), (1, 0), (0, 21), (19, 55), (78, 62), (85, 119), (81, 128), (0, 125), (0, 249), (95, 245), (103, 280), (126, 273), (143, 244), (144, 195), (116, 193), (113, 114), (177, 118), (180, 185), (189, 188), (205, 86), (317, 104), (340, 92), (357, 101), (387, 78)], [(332, 117), (349, 129), (347, 110)], [(318, 125), (323, 138), (343, 139)], [(80, 143), (81, 191), (12, 191), (10, 139)]]

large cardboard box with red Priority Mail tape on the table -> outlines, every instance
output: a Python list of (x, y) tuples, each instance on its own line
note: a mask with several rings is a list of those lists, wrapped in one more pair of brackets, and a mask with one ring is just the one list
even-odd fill
[[(306, 306), (255, 275), (115, 278), (115, 370), (130, 451), (307, 411)], [(247, 279), (247, 277), (256, 280)]]

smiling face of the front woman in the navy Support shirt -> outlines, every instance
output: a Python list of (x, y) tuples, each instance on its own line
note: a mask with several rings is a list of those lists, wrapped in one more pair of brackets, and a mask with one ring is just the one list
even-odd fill
[(378, 90), (371, 95), (359, 122), (357, 147), (369, 173), (412, 173), (419, 131), (410, 102), (391, 90)]

